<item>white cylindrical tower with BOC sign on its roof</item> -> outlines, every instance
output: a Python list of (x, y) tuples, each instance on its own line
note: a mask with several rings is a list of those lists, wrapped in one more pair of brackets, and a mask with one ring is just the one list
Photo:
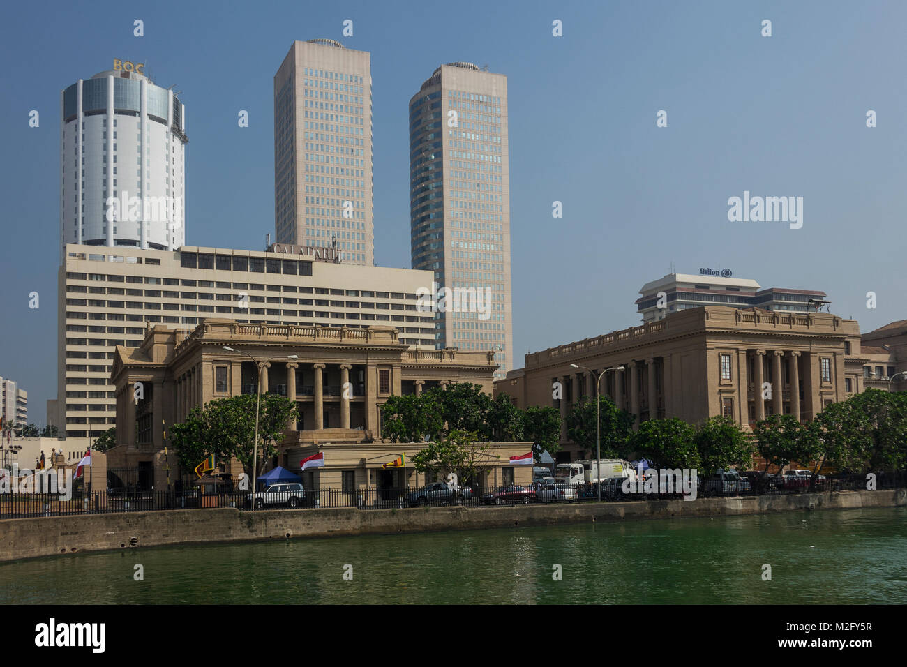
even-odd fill
[(60, 93), (61, 249), (183, 244), (185, 107), (142, 69), (114, 60)]

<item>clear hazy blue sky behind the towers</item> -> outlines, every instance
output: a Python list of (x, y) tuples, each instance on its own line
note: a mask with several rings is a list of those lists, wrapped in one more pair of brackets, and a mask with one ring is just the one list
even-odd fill
[[(639, 288), (671, 262), (823, 289), (863, 331), (907, 318), (907, 3), (93, 2), (4, 14), (0, 375), (29, 392), (34, 422), (56, 393), (59, 95), (115, 57), (182, 91), (186, 242), (260, 249), (274, 231), (278, 65), (295, 39), (371, 52), (375, 257), (407, 268), (407, 102), (438, 64), (506, 74), (517, 366), (639, 323)], [(745, 190), (802, 196), (803, 228), (728, 221), (727, 199)]]

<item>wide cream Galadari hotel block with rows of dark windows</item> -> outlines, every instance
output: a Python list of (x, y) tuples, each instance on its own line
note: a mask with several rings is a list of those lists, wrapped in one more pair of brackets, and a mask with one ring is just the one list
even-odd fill
[(272, 251), (183, 246), (115, 249), (69, 244), (58, 276), (57, 414), (61, 436), (99, 436), (115, 424), (114, 347), (146, 329), (189, 332), (203, 318), (339, 329), (390, 326), (399, 344), (434, 348), (430, 313), (417, 311), (428, 271), (338, 263), (329, 248)]

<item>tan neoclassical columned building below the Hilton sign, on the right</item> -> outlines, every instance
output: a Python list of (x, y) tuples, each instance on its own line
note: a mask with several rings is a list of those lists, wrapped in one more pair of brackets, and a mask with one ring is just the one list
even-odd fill
[[(907, 331), (907, 323), (893, 323), (898, 324), (897, 331), (886, 330), (885, 340), (894, 342), (897, 332), (907, 338), (901, 330)], [(494, 393), (510, 395), (518, 407), (558, 407), (567, 417), (580, 397), (595, 395), (593, 373), (598, 377), (612, 369), (600, 380), (601, 393), (636, 415), (637, 425), (664, 417), (697, 424), (727, 415), (749, 427), (771, 414), (812, 419), (825, 405), (866, 386), (886, 386), (877, 370), (867, 370), (883, 351), (890, 350), (869, 348), (863, 354), (853, 319), (706, 306), (527, 354), (523, 368), (494, 383)], [(894, 352), (886, 358), (879, 368), (891, 376)], [(566, 424), (561, 445), (561, 460), (576, 456)]]

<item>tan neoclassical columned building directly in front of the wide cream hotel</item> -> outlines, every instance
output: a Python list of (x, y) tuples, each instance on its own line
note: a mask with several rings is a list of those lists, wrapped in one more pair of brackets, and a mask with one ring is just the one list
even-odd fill
[[(157, 326), (148, 329), (138, 348), (116, 348), (112, 384), (118, 446), (110, 453), (109, 466), (153, 468), (160, 486), (168, 463), (171, 470), (175, 465), (175, 457), (168, 462), (164, 453), (167, 426), (182, 422), (193, 407), (210, 400), (255, 394), (259, 368), (262, 393), (286, 396), (297, 404), (297, 418), (288, 423), (278, 460), (271, 463), (298, 471), (302, 458), (325, 452), (326, 466), (317, 477), (307, 473), (307, 488), (390, 488), (424, 482), (412, 468), (406, 477), (401, 470), (384, 468), (398, 454), (408, 461), (422, 446), (382, 442), (380, 407), (391, 396), (419, 394), (451, 382), (472, 382), (491, 393), (497, 363), (493, 352), (410, 348), (400, 341), (397, 329), (387, 327), (204, 319), (187, 336)], [(522, 478), (522, 470), (503, 468), (510, 456), (525, 454), (530, 447), (493, 444), (490, 483), (514, 480), (514, 474)], [(240, 470), (234, 466), (222, 472), (236, 475)]]

